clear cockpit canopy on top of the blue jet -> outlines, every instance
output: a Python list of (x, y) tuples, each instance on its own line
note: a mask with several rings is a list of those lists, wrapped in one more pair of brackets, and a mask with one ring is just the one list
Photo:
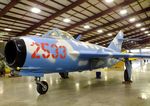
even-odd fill
[(48, 31), (46, 34), (42, 35), (42, 37), (74, 39), (71, 34), (56, 28)]

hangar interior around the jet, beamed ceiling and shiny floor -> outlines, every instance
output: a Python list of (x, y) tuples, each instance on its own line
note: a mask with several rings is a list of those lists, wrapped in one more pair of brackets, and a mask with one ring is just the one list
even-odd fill
[[(41, 36), (53, 28), (81, 35), (81, 41), (107, 47), (116, 34), (124, 33), (123, 50), (150, 54), (149, 0), (0, 0), (0, 52), (5, 43), (20, 36)], [(136, 49), (136, 50), (133, 50)], [(5, 63), (6, 64), (6, 63)], [(35, 90), (32, 77), (3, 77), (1, 106), (149, 106), (150, 60), (133, 60), (133, 83), (122, 84), (123, 70), (97, 69), (46, 75), (45, 95)], [(95, 72), (102, 78), (96, 79)], [(8, 72), (9, 73), (9, 72)]]

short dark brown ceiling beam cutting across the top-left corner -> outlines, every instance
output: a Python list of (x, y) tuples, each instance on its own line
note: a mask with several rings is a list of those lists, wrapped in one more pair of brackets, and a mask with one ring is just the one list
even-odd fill
[(4, 16), (11, 8), (13, 8), (20, 0), (11, 0), (0, 12), (0, 17)]

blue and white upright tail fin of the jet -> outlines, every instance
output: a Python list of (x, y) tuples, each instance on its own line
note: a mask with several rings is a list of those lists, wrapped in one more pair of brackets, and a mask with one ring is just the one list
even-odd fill
[(117, 36), (109, 44), (108, 48), (115, 50), (116, 52), (121, 52), (122, 42), (123, 42), (123, 32), (119, 31)]

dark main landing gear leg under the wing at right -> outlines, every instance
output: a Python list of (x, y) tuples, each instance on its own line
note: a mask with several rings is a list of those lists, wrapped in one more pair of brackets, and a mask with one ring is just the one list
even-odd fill
[(131, 61), (128, 58), (125, 58), (125, 71), (124, 71), (124, 82), (123, 83), (132, 83), (131, 81), (131, 70), (132, 70), (132, 64)]

